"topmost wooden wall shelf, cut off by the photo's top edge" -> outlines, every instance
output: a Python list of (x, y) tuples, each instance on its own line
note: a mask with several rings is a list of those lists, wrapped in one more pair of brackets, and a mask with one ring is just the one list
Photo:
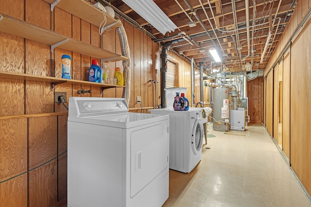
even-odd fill
[[(53, 10), (52, 5), (55, 2), (55, 6), (74, 15), (87, 22), (100, 27), (102, 21), (104, 20), (104, 14), (101, 10), (97, 9), (93, 5), (87, 3), (85, 0), (45, 0), (51, 4), (51, 10)], [(58, 1), (58, 2), (57, 2)], [(111, 16), (106, 15), (105, 27), (112, 25), (106, 30), (116, 29), (120, 27), (122, 23)]]

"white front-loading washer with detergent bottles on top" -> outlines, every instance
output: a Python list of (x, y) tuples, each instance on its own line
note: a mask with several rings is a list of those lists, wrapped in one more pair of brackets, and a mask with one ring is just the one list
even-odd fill
[(202, 108), (189, 111), (152, 109), (152, 114), (170, 115), (170, 169), (190, 173), (202, 156)]

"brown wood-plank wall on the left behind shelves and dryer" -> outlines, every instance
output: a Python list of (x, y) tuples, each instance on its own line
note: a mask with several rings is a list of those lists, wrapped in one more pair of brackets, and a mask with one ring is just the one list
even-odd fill
[[(43, 0), (0, 1), (0, 13), (52, 28), (94, 46), (101, 45), (97, 27), (57, 7), (51, 13), (50, 4)], [(129, 107), (133, 112), (147, 112), (155, 103), (149, 80), (160, 80), (160, 48), (129, 23), (124, 22), (124, 28), (132, 59)], [(104, 32), (103, 45), (121, 54), (116, 31)], [(87, 80), (92, 60), (92, 57), (56, 48), (51, 61), (50, 46), (6, 33), (0, 33), (0, 48), (0, 71), (51, 76), (52, 66), (52, 76), (60, 78), (61, 56), (68, 54), (72, 59), (72, 79)], [(190, 64), (175, 58), (180, 68), (190, 73)], [(110, 78), (115, 67), (122, 68), (121, 61), (105, 64)], [(189, 81), (190, 78), (184, 76), (180, 86), (189, 87)], [(123, 89), (107, 89), (102, 94), (100, 87), (83, 84), (59, 84), (51, 91), (50, 83), (0, 78), (0, 207), (48, 207), (67, 198), (68, 111), (61, 104), (53, 103), (53, 93), (67, 92), (68, 104), (70, 96), (81, 96), (77, 93), (81, 87), (93, 91), (82, 96), (121, 97), (123, 92)], [(141, 96), (146, 109), (140, 110), (136, 96)]]

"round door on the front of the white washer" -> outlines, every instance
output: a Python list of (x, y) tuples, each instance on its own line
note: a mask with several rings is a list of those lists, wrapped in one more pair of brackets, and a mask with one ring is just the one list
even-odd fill
[(203, 137), (204, 132), (202, 120), (200, 118), (197, 118), (194, 122), (191, 135), (191, 146), (192, 151), (195, 155), (202, 150)]

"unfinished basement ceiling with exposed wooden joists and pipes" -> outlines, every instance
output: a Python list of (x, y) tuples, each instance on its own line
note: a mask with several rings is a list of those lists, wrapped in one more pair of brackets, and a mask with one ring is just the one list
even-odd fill
[[(107, 5), (105, 0), (98, 0)], [(284, 31), (297, 0), (154, 0), (178, 27), (158, 32), (121, 0), (110, 0), (115, 12), (146, 31), (162, 45), (174, 41), (171, 50), (195, 64), (209, 67), (208, 52), (217, 48), (222, 59), (216, 67), (226, 72), (264, 70)], [(248, 6), (247, 6), (248, 4)], [(134, 20), (134, 21), (133, 21)], [(195, 22), (190, 25), (190, 22)], [(191, 27), (190, 27), (191, 26)], [(270, 34), (270, 35), (269, 35)]]

